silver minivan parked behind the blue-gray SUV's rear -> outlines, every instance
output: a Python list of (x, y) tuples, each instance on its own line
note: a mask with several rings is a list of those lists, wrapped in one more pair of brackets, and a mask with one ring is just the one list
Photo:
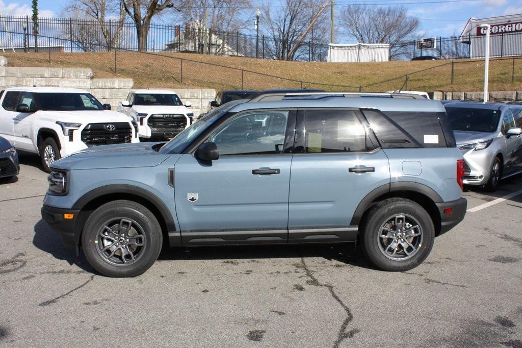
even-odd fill
[(495, 191), (522, 172), (522, 105), (453, 102), (444, 105), (466, 160), (464, 184)]

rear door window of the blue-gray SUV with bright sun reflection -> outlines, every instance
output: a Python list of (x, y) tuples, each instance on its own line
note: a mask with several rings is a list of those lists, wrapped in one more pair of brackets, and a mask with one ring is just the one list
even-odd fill
[(352, 110), (306, 110), (305, 153), (365, 152), (366, 131)]

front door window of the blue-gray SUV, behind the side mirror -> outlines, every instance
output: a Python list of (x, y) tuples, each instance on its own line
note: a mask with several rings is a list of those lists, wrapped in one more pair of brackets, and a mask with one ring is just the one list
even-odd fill
[(225, 123), (210, 136), (219, 155), (281, 154), (289, 111), (256, 111)]

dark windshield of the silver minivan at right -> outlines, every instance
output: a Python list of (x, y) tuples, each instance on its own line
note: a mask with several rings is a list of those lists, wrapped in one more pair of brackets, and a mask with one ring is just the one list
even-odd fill
[(454, 131), (495, 132), (500, 111), (473, 108), (446, 108), (449, 123)]

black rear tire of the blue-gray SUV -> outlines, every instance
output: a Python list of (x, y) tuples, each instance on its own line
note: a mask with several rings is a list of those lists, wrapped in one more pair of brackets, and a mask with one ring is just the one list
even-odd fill
[[(411, 231), (413, 234), (419, 233), (419, 235), (411, 238), (404, 238), (402, 233), (404, 233), (405, 229), (402, 229), (402, 233), (398, 233), (398, 231), (401, 231), (399, 228), (395, 227), (394, 230), (394, 225), (390, 225), (389, 223), (386, 224), (392, 220), (398, 222), (395, 220), (395, 217), (397, 216), (399, 216), (399, 221), (401, 221), (400, 216), (406, 219), (402, 220), (402, 223), (408, 224), (413, 222), (418, 225), (420, 229), (412, 229)], [(385, 229), (381, 230), (384, 226), (388, 226), (387, 228), (389, 228), (390, 232)], [(405, 226), (411, 227), (415, 225), (411, 224)], [(395, 234), (393, 234), (394, 231)], [(386, 233), (387, 235), (388, 233), (391, 233), (390, 236), (397, 235), (397, 238), (402, 237), (402, 239), (394, 239), (396, 237), (379, 237), (381, 232), (383, 234)], [(394, 242), (397, 240), (399, 241), (399, 245), (393, 249), (386, 248), (387, 246), (393, 247)], [(408, 271), (416, 268), (430, 254), (434, 240), (435, 228), (428, 212), (426, 212), (424, 208), (416, 202), (402, 198), (387, 199), (373, 206), (364, 220), (363, 231), (360, 236), (361, 246), (366, 257), (369, 258), (378, 268), (384, 271), (394, 272)], [(416, 249), (407, 246), (406, 250), (404, 250), (402, 245), (407, 245), (408, 243), (412, 245), (412, 247), (416, 246)], [(383, 251), (383, 249), (394, 251), (398, 254), (392, 256), (389, 252)], [(407, 256), (407, 251), (411, 256)], [(404, 254), (405, 257), (403, 259), (398, 259), (398, 257), (401, 256), (401, 253)], [(385, 254), (388, 256), (385, 256)]]

